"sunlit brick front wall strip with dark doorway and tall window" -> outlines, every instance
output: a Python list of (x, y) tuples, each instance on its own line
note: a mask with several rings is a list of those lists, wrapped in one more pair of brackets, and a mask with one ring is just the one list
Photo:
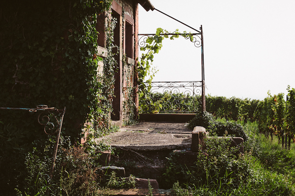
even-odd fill
[(118, 49), (115, 55), (117, 60), (117, 73), (115, 74), (115, 98), (112, 120), (119, 125), (133, 123), (136, 118), (136, 86), (138, 57), (136, 36), (138, 34), (138, 1), (114, 0), (112, 12), (117, 18), (114, 40)]

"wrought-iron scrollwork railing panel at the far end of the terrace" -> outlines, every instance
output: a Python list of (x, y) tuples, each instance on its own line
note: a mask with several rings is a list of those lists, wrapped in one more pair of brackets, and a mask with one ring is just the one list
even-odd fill
[(196, 113), (202, 102), (202, 81), (146, 83), (142, 113)]

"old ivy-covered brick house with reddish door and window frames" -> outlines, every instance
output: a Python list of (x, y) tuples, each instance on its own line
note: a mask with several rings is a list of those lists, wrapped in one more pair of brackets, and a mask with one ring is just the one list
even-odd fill
[[(58, 109), (66, 107), (63, 121), (65, 134), (80, 138), (79, 134), (89, 114), (101, 106), (95, 105), (99, 101), (97, 95), (101, 92), (96, 86), (98, 90), (94, 89), (92, 79), (95, 78), (96, 71), (103, 71), (104, 65), (103, 61), (98, 61), (98, 70), (93, 72), (97, 69), (93, 59), (96, 56), (103, 59), (108, 57), (106, 28), (109, 20), (106, 17), (112, 16), (117, 19), (114, 44), (118, 49), (114, 50), (117, 53), (114, 56), (117, 72), (113, 112), (109, 115), (119, 126), (132, 120), (138, 111), (136, 43), (139, 6), (147, 11), (154, 9), (149, 0), (1, 1), (0, 107), (32, 108), (39, 104)], [(109, 8), (111, 11), (107, 11)], [(96, 32), (91, 30), (91, 17), (94, 14), (95, 17), (98, 16), (98, 50), (96, 43), (92, 47), (93, 41), (96, 41)], [(91, 24), (91, 27), (84, 22)], [(91, 35), (87, 37), (89, 34)], [(130, 109), (127, 105), (133, 107)], [(104, 123), (109, 108), (108, 102), (102, 117), (97, 115), (99, 117), (95, 121)], [(14, 111), (9, 115), (0, 111), (0, 121), (9, 123), (15, 119), (15, 114)], [(39, 125), (34, 125), (34, 118), (23, 116), (23, 113), (19, 116), (17, 119), (20, 123), (22, 118), (28, 117), (28, 130), (33, 124), (33, 129), (37, 132)], [(32, 140), (37, 138), (33, 132), (30, 135)]]

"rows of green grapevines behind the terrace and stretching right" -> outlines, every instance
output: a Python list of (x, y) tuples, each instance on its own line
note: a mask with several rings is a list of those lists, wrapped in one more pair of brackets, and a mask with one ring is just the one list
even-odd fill
[[(206, 111), (226, 121), (257, 121), (259, 131), (267, 137), (278, 137), (283, 148), (290, 148), (295, 134), (295, 89), (288, 87), (287, 100), (283, 93), (264, 100), (206, 96)], [(150, 93), (140, 99), (141, 113), (198, 113), (201, 96), (183, 93)]]

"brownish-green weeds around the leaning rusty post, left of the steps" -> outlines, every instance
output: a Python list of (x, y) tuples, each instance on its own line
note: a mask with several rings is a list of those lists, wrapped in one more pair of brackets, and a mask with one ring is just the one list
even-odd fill
[(56, 196), (98, 196), (101, 186), (99, 153), (94, 150), (110, 149), (105, 144), (99, 144), (98, 149), (91, 147), (73, 146), (69, 139), (61, 138), (61, 144), (56, 160), (53, 179), (49, 179), (49, 170), (53, 146), (55, 141), (38, 141), (33, 150), (26, 156), (26, 176), (22, 186), (16, 190), (19, 196), (46, 195), (49, 193)]

